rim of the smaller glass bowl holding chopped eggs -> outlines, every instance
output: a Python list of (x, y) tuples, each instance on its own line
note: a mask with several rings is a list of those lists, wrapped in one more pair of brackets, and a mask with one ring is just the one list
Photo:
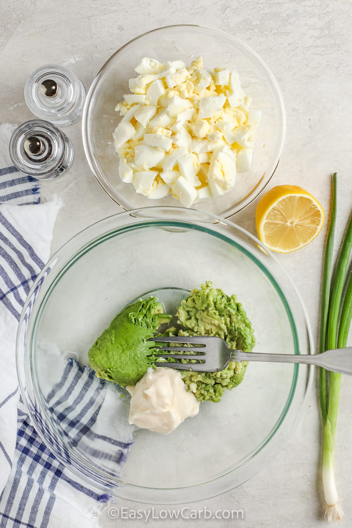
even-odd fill
[[(274, 173), (275, 173), (275, 171), (278, 168), (278, 165), (280, 163), (280, 160), (281, 160), (281, 157), (282, 157), (282, 154), (283, 154), (283, 149), (284, 149), (285, 142), (286, 142), (286, 134), (287, 134), (286, 108), (285, 108), (285, 105), (284, 105), (284, 100), (283, 100), (283, 97), (282, 97), (282, 92), (281, 92), (281, 89), (279, 87), (278, 81), (274, 77), (274, 74), (272, 73), (272, 71), (270, 70), (268, 65), (260, 57), (260, 55), (258, 53), (256, 53), (256, 51), (254, 51), (248, 44), (246, 44), (245, 42), (243, 42), (240, 39), (237, 39), (237, 37), (231, 35), (230, 33), (227, 33), (225, 31), (216, 29), (216, 28), (211, 27), (211, 26), (205, 26), (205, 25), (201, 25), (201, 24), (171, 24), (171, 25), (167, 25), (167, 26), (156, 27), (153, 30), (149, 30), (149, 31), (146, 31), (145, 33), (141, 33), (140, 35), (137, 35), (133, 39), (129, 40), (128, 42), (126, 42), (125, 44), (120, 46), (120, 48), (118, 50), (116, 50), (109, 57), (109, 59), (106, 62), (104, 62), (104, 64), (102, 65), (102, 67), (98, 71), (96, 77), (94, 77), (94, 79), (93, 79), (93, 81), (92, 81), (92, 83), (90, 85), (90, 88), (89, 88), (89, 90), (87, 92), (87, 97), (85, 98), (84, 107), (83, 107), (83, 113), (82, 113), (82, 142), (83, 142), (84, 154), (85, 154), (85, 157), (87, 159), (88, 165), (89, 165), (94, 177), (96, 178), (96, 180), (99, 183), (99, 185), (103, 188), (103, 190), (108, 194), (108, 196), (110, 196), (110, 198), (115, 203), (117, 203), (119, 205), (119, 207), (123, 211), (133, 211), (135, 208), (126, 209), (125, 206), (123, 206), (121, 203), (119, 203), (117, 197), (114, 196), (110, 192), (110, 187), (109, 187), (107, 181), (105, 180), (105, 178), (102, 176), (102, 174), (101, 174), (101, 172), (99, 170), (99, 167), (97, 167), (94, 164), (93, 149), (92, 149), (92, 145), (91, 145), (91, 142), (90, 142), (90, 130), (89, 130), (90, 129), (89, 122), (90, 122), (90, 117), (91, 117), (90, 116), (90, 109), (91, 109), (91, 107), (92, 107), (92, 105), (94, 103), (93, 95), (94, 95), (94, 92), (96, 90), (97, 84), (99, 83), (100, 78), (101, 78), (101, 76), (104, 73), (104, 70), (105, 70), (107, 64), (111, 60), (113, 60), (115, 55), (117, 55), (121, 50), (123, 50), (123, 48), (126, 48), (126, 46), (128, 46), (131, 42), (134, 42), (134, 41), (138, 40), (142, 36), (148, 35), (150, 33), (158, 32), (158, 31), (161, 31), (161, 30), (169, 29), (169, 28), (175, 28), (175, 27), (184, 27), (184, 28), (198, 27), (198, 28), (202, 28), (202, 29), (213, 31), (214, 33), (220, 33), (222, 35), (226, 35), (227, 37), (230, 37), (231, 39), (233, 39), (234, 41), (239, 43), (240, 46), (243, 46), (243, 48), (246, 51), (248, 51), (249, 53), (251, 53), (254, 56), (254, 58), (261, 64), (261, 66), (263, 67), (265, 72), (268, 74), (273, 88), (275, 89), (275, 92), (276, 92), (275, 95), (278, 97), (278, 106), (279, 106), (280, 111), (281, 111), (280, 127), (282, 128), (282, 136), (281, 136), (280, 146), (277, 149), (278, 150), (277, 159), (274, 162), (273, 168), (271, 169), (271, 171), (272, 171), (271, 175), (268, 177), (268, 180), (265, 181), (264, 184), (261, 186), (261, 182), (264, 180), (264, 176), (265, 176), (265, 172), (264, 172), (264, 174), (262, 175), (260, 180), (258, 182), (256, 182), (256, 184), (254, 185), (252, 190), (243, 198), (243, 200), (241, 202), (237, 203), (236, 205), (230, 206), (230, 208), (228, 208), (227, 210), (223, 211), (222, 213), (217, 213), (217, 215), (221, 216), (221, 218), (225, 218), (225, 219), (226, 218), (230, 218), (230, 216), (232, 216), (232, 215), (234, 215), (236, 213), (239, 213), (240, 211), (243, 211), (248, 205), (250, 205), (263, 192), (265, 187), (267, 187), (267, 185), (271, 181), (271, 178), (273, 177), (273, 175), (274, 175)], [(260, 188), (260, 190), (259, 190), (258, 193), (255, 193), (255, 190), (257, 188)], [(152, 206), (153, 205), (148, 205), (148, 206), (144, 206), (143, 208), (140, 208), (140, 209), (146, 209), (146, 208), (152, 207)], [(163, 205), (155, 205), (154, 207), (159, 207), (159, 206), (162, 207)], [(213, 213), (210, 213), (210, 214), (213, 214)]]

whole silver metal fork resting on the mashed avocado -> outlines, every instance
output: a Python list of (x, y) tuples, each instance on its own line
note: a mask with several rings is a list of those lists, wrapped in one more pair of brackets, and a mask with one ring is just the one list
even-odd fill
[[(157, 347), (160, 352), (183, 352), (182, 354), (153, 354), (165, 360), (171, 357), (177, 360), (196, 360), (197, 363), (172, 363), (168, 362), (170, 369), (193, 370), (199, 372), (217, 372), (229, 365), (230, 361), (269, 361), (275, 363), (306, 363), (324, 367), (324, 369), (352, 375), (352, 347), (328, 350), (321, 354), (265, 354), (258, 352), (243, 352), (231, 350), (229, 345), (220, 337), (203, 336), (177, 336), (177, 337), (151, 337), (148, 341), (156, 343), (179, 343), (178, 346)], [(193, 346), (182, 346), (193, 345)], [(155, 348), (155, 347), (153, 347)], [(187, 355), (195, 352), (195, 355)], [(201, 363), (199, 362), (201, 361)], [(165, 361), (155, 363), (156, 366), (166, 366)]]

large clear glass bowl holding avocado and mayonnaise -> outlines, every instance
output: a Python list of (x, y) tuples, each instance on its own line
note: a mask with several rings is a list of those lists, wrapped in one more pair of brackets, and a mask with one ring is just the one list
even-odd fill
[[(22, 397), (45, 444), (91, 485), (154, 504), (208, 498), (268, 464), (297, 425), (312, 369), (250, 363), (237, 388), (225, 390), (219, 403), (202, 403), (199, 414), (170, 435), (137, 430), (118, 470), (117, 412), (121, 401), (128, 406), (128, 397), (120, 400), (117, 385), (102, 382), (97, 392), (92, 379), (99, 380), (91, 373), (81, 392), (84, 402), (98, 406), (94, 423), (105, 409), (96, 437), (116, 440), (104, 451), (91, 448), (89, 428), (75, 431), (78, 436), (66, 430), (64, 409), (76, 429), (82, 410), (57, 383), (63, 358), (75, 356), (87, 365), (97, 336), (146, 292), (159, 290), (166, 309), (175, 309), (185, 290), (206, 280), (243, 303), (256, 352), (312, 353), (305, 307), (279, 261), (243, 229), (201, 211), (153, 207), (110, 216), (67, 242), (37, 278), (18, 329)], [(53, 399), (60, 402), (59, 415)]]

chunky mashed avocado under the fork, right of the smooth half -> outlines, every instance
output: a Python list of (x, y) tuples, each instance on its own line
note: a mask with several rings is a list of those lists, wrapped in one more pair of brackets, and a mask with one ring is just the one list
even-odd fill
[[(221, 337), (233, 350), (245, 352), (251, 352), (255, 344), (252, 325), (242, 304), (235, 295), (229, 297), (222, 290), (213, 288), (210, 281), (200, 290), (191, 291), (178, 308), (177, 316), (185, 328), (178, 335)], [(199, 400), (218, 402), (225, 387), (230, 390), (241, 383), (247, 364), (232, 361), (220, 372), (181, 371), (181, 374), (187, 389), (192, 390)]]

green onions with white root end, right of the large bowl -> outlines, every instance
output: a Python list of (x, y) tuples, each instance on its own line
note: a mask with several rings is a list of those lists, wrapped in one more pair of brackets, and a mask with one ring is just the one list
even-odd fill
[[(343, 308), (341, 312), (340, 325), (338, 329), (338, 317), (341, 307), (341, 298), (345, 284), (348, 260), (352, 248), (352, 218), (349, 221), (343, 246), (338, 259), (334, 285), (332, 286), (330, 298), (331, 263), (334, 251), (334, 237), (336, 224), (336, 194), (337, 176), (333, 177), (332, 183), (332, 205), (330, 226), (326, 244), (324, 271), (322, 277), (321, 296), (321, 324), (320, 324), (320, 350), (334, 350), (346, 346), (348, 331), (352, 318), (352, 278), (350, 278)], [(327, 397), (327, 381), (329, 381), (329, 397)], [(334, 451), (337, 424), (337, 412), (340, 396), (341, 374), (327, 372), (320, 369), (319, 390), (320, 407), (324, 428), (324, 446), (322, 458), (322, 483), (324, 486), (325, 501), (327, 508), (324, 517), (328, 521), (338, 521), (343, 517), (343, 512), (338, 505), (338, 495), (334, 474)]]

